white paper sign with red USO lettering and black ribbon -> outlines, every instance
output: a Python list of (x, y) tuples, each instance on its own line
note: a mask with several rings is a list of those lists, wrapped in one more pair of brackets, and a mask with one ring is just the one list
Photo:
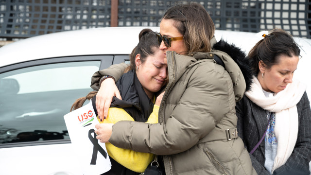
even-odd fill
[(111, 169), (106, 146), (96, 139), (99, 123), (92, 101), (64, 116), (69, 137), (84, 175), (101, 175)]

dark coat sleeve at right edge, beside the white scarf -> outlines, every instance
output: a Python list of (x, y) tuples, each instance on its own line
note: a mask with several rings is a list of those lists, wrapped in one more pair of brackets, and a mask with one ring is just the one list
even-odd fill
[(311, 161), (311, 109), (305, 92), (297, 104), (299, 120), (298, 137), (292, 155), (274, 171), (274, 175), (310, 175)]

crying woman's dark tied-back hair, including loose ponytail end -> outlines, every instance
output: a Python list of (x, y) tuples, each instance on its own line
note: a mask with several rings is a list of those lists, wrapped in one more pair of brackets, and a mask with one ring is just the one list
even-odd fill
[[(157, 41), (157, 37), (155, 32), (151, 29), (143, 29), (140, 31), (139, 35), (139, 42), (138, 45), (133, 49), (132, 53), (130, 54), (130, 66), (125, 69), (125, 72), (129, 70), (135, 70), (135, 58), (137, 54), (140, 54), (141, 63), (143, 63), (147, 56), (155, 54), (156, 49), (159, 48), (159, 43)], [(70, 112), (72, 110), (78, 109), (82, 107), (86, 100), (92, 99), (97, 94), (97, 91), (91, 91), (86, 95), (86, 97), (81, 97), (77, 99), (71, 106)]]

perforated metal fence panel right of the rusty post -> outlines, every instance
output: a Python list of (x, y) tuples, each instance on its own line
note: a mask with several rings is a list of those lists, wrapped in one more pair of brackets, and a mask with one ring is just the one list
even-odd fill
[[(179, 1), (186, 2), (186, 1)], [(216, 29), (260, 32), (281, 28), (294, 36), (311, 37), (308, 0), (196, 0)], [(119, 0), (119, 26), (157, 26), (175, 0)]]

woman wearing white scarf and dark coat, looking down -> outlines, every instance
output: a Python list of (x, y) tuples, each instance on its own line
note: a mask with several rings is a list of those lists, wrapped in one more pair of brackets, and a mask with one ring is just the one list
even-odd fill
[[(263, 36), (248, 55), (255, 76), (236, 106), (239, 135), (255, 150), (250, 156), (259, 175), (310, 175), (310, 102), (307, 87), (293, 79), (300, 50), (285, 31)], [(269, 123), (266, 114), (274, 117)]]

